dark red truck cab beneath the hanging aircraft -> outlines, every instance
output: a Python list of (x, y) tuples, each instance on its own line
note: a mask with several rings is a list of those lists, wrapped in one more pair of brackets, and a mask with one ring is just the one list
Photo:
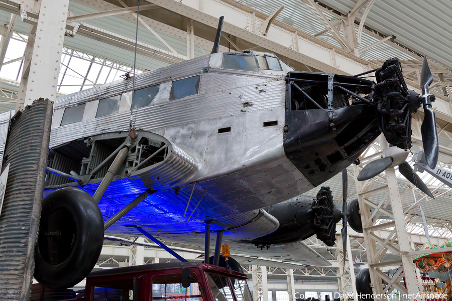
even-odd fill
[(80, 300), (253, 301), (246, 280), (245, 274), (205, 263), (128, 266), (90, 273)]

